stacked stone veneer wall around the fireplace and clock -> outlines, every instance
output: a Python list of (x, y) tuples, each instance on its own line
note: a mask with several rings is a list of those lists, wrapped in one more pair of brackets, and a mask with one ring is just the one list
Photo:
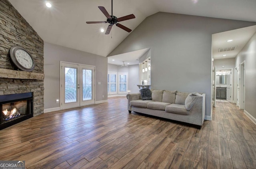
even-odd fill
[[(35, 62), (32, 72), (44, 73), (44, 41), (8, 0), (0, 0), (0, 68), (15, 70), (10, 64), (12, 46), (28, 50)], [(44, 81), (0, 78), (0, 95), (33, 92), (34, 116), (44, 113)]]

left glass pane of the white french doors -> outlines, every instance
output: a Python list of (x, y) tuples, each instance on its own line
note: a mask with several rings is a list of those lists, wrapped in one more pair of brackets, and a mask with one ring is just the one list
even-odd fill
[(77, 101), (77, 69), (65, 67), (65, 103)]

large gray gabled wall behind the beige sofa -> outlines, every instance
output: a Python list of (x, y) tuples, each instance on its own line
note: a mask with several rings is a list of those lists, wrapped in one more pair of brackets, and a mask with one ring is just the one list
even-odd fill
[(153, 89), (206, 93), (211, 115), (212, 34), (255, 25), (158, 12), (146, 18), (109, 56), (151, 48)]

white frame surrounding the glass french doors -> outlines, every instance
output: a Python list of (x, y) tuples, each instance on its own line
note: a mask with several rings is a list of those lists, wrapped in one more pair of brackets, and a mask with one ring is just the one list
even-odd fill
[[(78, 63), (73, 63), (73, 62), (64, 62), (64, 61), (60, 61), (60, 110), (62, 109), (67, 109), (67, 108), (63, 108), (62, 107), (62, 103), (64, 102), (63, 100), (63, 93), (62, 93), (62, 64), (74, 64), (74, 65), (78, 65), (78, 66), (90, 66), (90, 67), (94, 67), (94, 72), (93, 72), (93, 87), (94, 87), (94, 91), (93, 91), (93, 94), (94, 94), (94, 103), (92, 104), (95, 104), (95, 97), (96, 97), (96, 89), (95, 89), (95, 82), (96, 82), (96, 77), (95, 77), (95, 70), (96, 70), (96, 66), (92, 66), (92, 65), (86, 65), (86, 64), (78, 64)], [(80, 70), (78, 70), (80, 71)], [(81, 96), (80, 96), (81, 97)], [(79, 102), (80, 102), (80, 98), (78, 98)], [(88, 104), (88, 105), (92, 105), (92, 104)], [(86, 105), (78, 105), (78, 107), (82, 107), (82, 106), (86, 106)], [(72, 108), (72, 107), (70, 107)]]

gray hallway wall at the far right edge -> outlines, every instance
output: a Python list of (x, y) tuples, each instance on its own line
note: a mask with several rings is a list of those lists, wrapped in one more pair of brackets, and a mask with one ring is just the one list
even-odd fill
[(244, 110), (256, 118), (256, 34), (236, 56), (236, 67), (245, 61)]

